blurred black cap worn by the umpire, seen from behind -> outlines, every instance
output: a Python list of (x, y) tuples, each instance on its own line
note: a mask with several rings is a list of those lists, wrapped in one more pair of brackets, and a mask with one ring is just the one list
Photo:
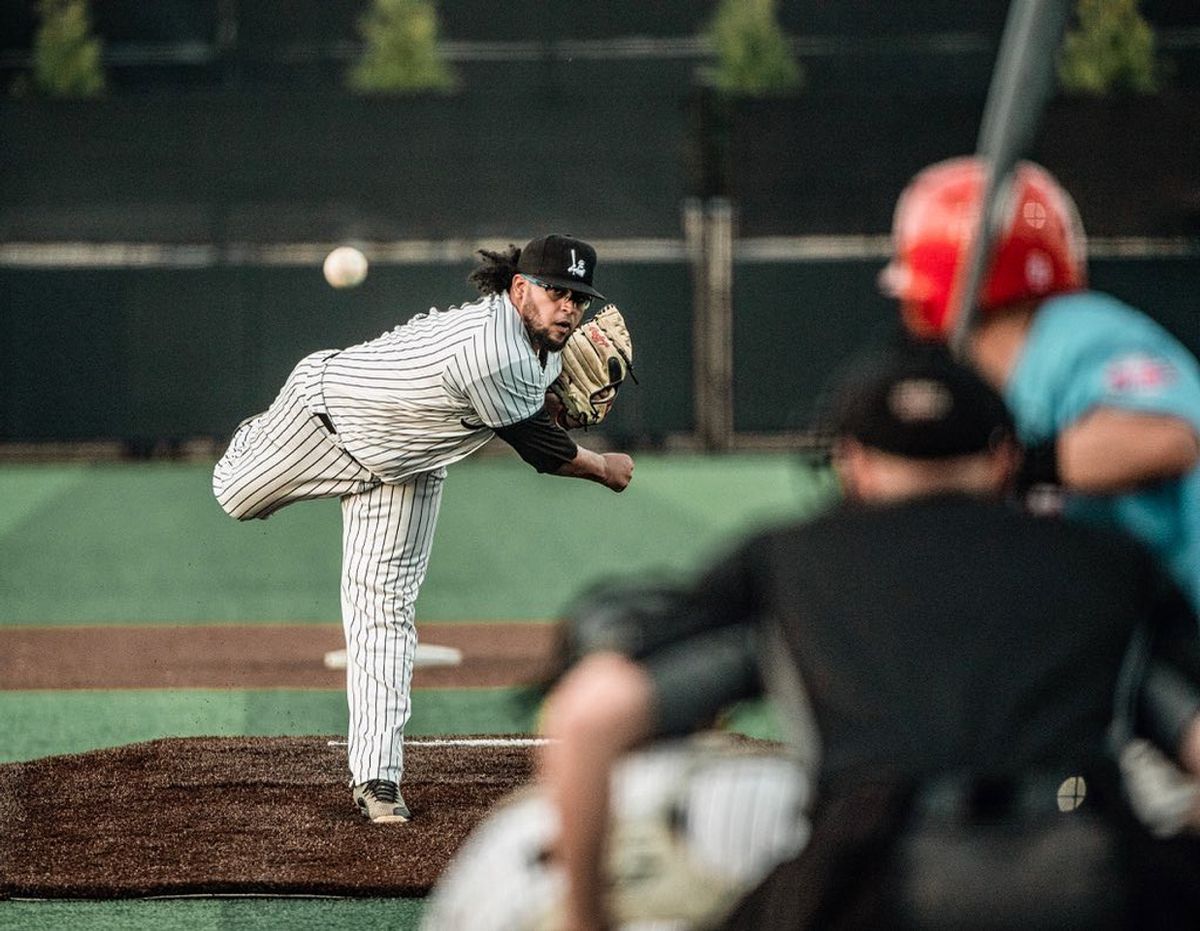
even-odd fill
[(914, 460), (985, 452), (1015, 434), (996, 390), (940, 347), (896, 349), (862, 364), (838, 392), (829, 427)]

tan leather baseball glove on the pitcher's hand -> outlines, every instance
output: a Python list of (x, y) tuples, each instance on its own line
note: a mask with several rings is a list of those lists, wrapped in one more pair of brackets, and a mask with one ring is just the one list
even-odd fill
[(604, 420), (625, 376), (632, 376), (632, 366), (634, 346), (625, 319), (617, 305), (610, 304), (563, 347), (563, 373), (550, 386), (562, 404), (558, 424), (592, 427)]

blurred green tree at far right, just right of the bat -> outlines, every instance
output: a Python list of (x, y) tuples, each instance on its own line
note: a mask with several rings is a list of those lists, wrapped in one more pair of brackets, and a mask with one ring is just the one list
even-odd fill
[(1154, 30), (1138, 0), (1079, 0), (1079, 28), (1067, 34), (1058, 56), (1058, 82), (1074, 94), (1158, 90)]

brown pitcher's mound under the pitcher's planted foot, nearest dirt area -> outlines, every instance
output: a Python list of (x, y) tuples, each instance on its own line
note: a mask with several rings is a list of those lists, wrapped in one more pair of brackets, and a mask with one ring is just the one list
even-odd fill
[(377, 825), (331, 739), (166, 739), (0, 765), (0, 897), (424, 895), (532, 779), (527, 738), (414, 739), (413, 821)]

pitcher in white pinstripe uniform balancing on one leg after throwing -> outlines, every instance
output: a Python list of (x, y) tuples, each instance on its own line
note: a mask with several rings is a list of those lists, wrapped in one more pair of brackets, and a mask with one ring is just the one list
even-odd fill
[(601, 296), (595, 250), (550, 235), (480, 256), (469, 277), (479, 300), (301, 359), (212, 473), (217, 500), (239, 521), (293, 501), (342, 501), (350, 783), (373, 822), (410, 817), (400, 782), (414, 603), (446, 467), (499, 436), (540, 473), (620, 492), (634, 471), (625, 454), (577, 445), (546, 410), (558, 353)]

